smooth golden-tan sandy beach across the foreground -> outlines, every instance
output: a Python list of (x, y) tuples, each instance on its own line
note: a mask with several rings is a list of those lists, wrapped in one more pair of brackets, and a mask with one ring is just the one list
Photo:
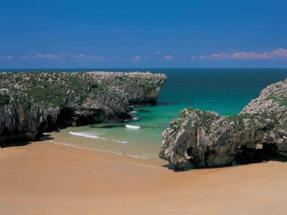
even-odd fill
[(286, 214), (287, 164), (173, 172), (48, 143), (0, 150), (0, 214)]

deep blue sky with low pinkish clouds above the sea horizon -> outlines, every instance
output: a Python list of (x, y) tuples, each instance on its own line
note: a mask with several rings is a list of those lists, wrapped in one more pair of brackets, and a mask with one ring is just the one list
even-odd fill
[(286, 0), (0, 0), (0, 68), (287, 68)]

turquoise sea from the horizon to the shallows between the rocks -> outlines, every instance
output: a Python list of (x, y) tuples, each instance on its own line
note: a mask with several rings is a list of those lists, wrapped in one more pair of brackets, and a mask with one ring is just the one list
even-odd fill
[[(76, 69), (75, 69), (76, 70)], [(75, 71), (65, 70), (65, 71)], [(77, 69), (79, 70), (79, 69)], [(89, 69), (95, 71), (99, 69)], [(168, 80), (158, 104), (135, 107), (135, 121), (68, 127), (55, 133), (61, 143), (140, 158), (157, 158), (161, 132), (185, 107), (237, 114), (261, 89), (287, 78), (287, 69), (110, 69), (165, 73)], [(137, 130), (126, 125), (137, 125)]]

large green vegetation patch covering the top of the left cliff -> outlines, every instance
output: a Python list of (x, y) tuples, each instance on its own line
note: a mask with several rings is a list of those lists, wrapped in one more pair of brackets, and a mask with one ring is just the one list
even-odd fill
[(14, 98), (26, 99), (29, 104), (31, 101), (44, 107), (80, 104), (86, 99), (90, 87), (90, 81), (84, 73), (7, 73), (1, 74), (0, 83), (10, 90)]

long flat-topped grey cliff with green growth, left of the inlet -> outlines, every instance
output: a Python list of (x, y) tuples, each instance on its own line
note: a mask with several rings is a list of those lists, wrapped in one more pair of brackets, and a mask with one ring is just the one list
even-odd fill
[(122, 121), (131, 105), (155, 103), (165, 81), (164, 74), (140, 72), (1, 73), (0, 143)]

